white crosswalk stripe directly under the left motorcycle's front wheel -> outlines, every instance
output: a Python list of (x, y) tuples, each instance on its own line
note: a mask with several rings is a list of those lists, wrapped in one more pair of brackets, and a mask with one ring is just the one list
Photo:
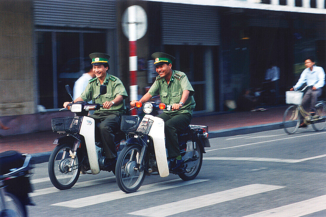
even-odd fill
[[(111, 182), (111, 181), (115, 181), (115, 177), (102, 178), (102, 179), (96, 179), (96, 180), (91, 180), (91, 181), (77, 182), (72, 187), (72, 189), (82, 188), (82, 187), (87, 187), (87, 186), (92, 186), (92, 185), (97, 185), (97, 184), (103, 184), (103, 183), (107, 183), (107, 182)], [(55, 192), (59, 192), (59, 191), (60, 190), (57, 189), (56, 187), (50, 187), (50, 188), (43, 188), (43, 189), (35, 190), (34, 192), (29, 193), (28, 195), (33, 197), (33, 196), (51, 194), (51, 193), (55, 193)]]

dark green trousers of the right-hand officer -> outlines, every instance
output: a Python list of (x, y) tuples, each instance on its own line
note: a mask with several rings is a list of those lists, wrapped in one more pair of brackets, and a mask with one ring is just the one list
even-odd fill
[(185, 129), (191, 122), (191, 114), (168, 114), (162, 113), (157, 117), (164, 120), (165, 146), (168, 149), (169, 157), (180, 155), (177, 131)]

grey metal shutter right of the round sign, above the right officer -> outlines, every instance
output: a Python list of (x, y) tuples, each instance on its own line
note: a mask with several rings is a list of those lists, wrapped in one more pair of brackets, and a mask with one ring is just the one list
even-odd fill
[(162, 43), (170, 45), (219, 45), (216, 7), (162, 3)]

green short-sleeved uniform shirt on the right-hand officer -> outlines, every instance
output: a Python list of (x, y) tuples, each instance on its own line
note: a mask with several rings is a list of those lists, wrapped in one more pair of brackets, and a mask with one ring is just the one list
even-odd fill
[(194, 89), (192, 88), (187, 76), (183, 72), (172, 70), (172, 76), (170, 78), (169, 85), (165, 78), (157, 76), (154, 84), (149, 89), (148, 93), (152, 96), (160, 95), (162, 103), (166, 105), (173, 105), (174, 103), (180, 102), (184, 90), (190, 91), (190, 94), (187, 101), (184, 102), (183, 107), (181, 107), (181, 109), (177, 111), (167, 111), (165, 109), (164, 112), (176, 114), (192, 114), (192, 110), (195, 108), (196, 105), (193, 97)]

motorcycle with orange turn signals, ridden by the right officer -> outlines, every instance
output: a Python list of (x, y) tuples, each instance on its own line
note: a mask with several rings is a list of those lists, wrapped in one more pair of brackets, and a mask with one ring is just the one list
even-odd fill
[(119, 188), (126, 193), (135, 192), (143, 183), (145, 175), (166, 177), (173, 173), (185, 181), (195, 179), (201, 168), (202, 154), (206, 153), (204, 148), (210, 147), (208, 127), (189, 125), (177, 133), (185, 169), (170, 172), (169, 165), (172, 162), (167, 158), (165, 148), (164, 121), (154, 115), (165, 107), (171, 109), (171, 106), (154, 102), (146, 102), (142, 106), (141, 102), (137, 102), (136, 107), (142, 107), (146, 115), (122, 116), (121, 130), (129, 135), (115, 167)]

